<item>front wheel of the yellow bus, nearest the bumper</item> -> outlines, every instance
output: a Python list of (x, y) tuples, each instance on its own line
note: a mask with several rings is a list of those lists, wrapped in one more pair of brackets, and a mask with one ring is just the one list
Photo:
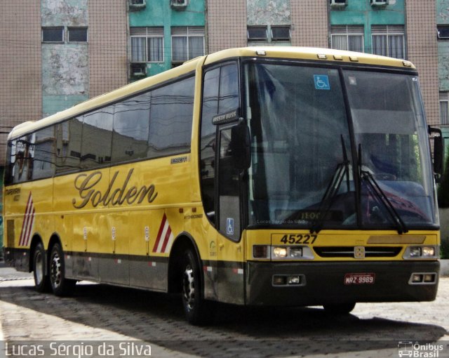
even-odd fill
[(201, 297), (201, 276), (196, 256), (191, 250), (182, 258), (182, 305), (190, 324), (208, 324), (212, 319), (210, 303)]

